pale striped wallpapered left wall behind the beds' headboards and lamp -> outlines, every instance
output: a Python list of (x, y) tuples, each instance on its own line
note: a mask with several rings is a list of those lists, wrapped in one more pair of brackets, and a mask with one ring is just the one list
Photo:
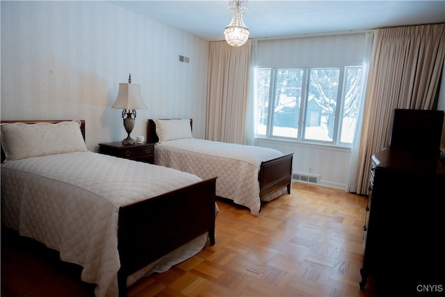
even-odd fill
[[(179, 63), (178, 54), (189, 64)], [(1, 120), (86, 120), (86, 143), (127, 137), (111, 109), (140, 84), (147, 118), (193, 118), (204, 138), (209, 42), (108, 1), (1, 1)]]

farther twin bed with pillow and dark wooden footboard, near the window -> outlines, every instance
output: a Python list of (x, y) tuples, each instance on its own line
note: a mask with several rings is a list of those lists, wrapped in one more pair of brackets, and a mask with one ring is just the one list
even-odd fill
[(293, 153), (252, 145), (193, 138), (193, 120), (147, 120), (147, 142), (156, 143), (154, 163), (218, 177), (216, 196), (248, 207), (254, 216), (261, 202), (291, 193)]

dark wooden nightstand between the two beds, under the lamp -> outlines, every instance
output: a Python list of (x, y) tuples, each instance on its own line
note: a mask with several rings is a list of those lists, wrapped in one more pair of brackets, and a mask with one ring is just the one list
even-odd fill
[(122, 145), (122, 141), (99, 143), (99, 153), (134, 161), (154, 163), (154, 143), (136, 143), (136, 145)]

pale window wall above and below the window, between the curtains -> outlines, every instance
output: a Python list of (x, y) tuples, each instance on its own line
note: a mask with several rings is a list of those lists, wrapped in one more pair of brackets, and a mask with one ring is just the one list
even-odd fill
[[(365, 51), (366, 33), (261, 40), (258, 42), (257, 64), (277, 68), (362, 65)], [(350, 163), (348, 147), (270, 138), (256, 138), (255, 145), (284, 153), (293, 152), (293, 172), (319, 175), (318, 184), (323, 186), (346, 188)]]

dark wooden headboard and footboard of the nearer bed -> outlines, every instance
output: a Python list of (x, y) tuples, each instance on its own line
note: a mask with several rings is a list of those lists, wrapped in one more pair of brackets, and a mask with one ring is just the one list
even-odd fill
[[(1, 121), (1, 123), (65, 120)], [(85, 120), (81, 120), (85, 139)], [(3, 162), (3, 149), (2, 162)], [(127, 277), (176, 248), (209, 232), (215, 244), (216, 177), (119, 209), (119, 295), (127, 296)]]

